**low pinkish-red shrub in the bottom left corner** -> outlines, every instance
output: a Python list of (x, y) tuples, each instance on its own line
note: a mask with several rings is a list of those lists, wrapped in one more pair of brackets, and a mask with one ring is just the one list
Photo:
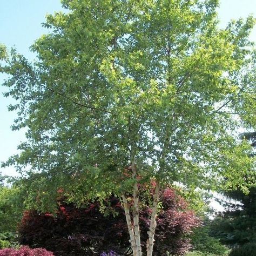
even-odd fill
[(19, 249), (5, 248), (0, 250), (0, 256), (54, 256), (52, 252), (44, 248), (31, 249), (28, 246), (22, 246)]

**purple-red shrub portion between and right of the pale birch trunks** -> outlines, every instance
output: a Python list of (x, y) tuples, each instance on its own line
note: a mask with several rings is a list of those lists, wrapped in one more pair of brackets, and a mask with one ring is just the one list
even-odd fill
[[(153, 255), (183, 255), (191, 248), (188, 235), (192, 228), (200, 225), (199, 218), (192, 210), (189, 210), (188, 203), (178, 196), (171, 188), (160, 192), (161, 211), (157, 217), (157, 228)], [(150, 225), (150, 207), (145, 207), (140, 212), (141, 238), (144, 250), (146, 249), (147, 231)]]

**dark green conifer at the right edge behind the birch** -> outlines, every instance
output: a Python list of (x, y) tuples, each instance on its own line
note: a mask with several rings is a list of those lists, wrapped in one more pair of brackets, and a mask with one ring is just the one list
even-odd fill
[[(245, 132), (242, 138), (250, 141), (253, 147), (256, 146), (256, 132)], [(255, 152), (252, 153), (254, 156)], [(256, 178), (256, 173), (252, 173)], [(244, 179), (247, 179), (245, 176)], [(244, 247), (234, 250), (239, 254), (251, 255), (256, 244), (256, 187), (252, 186), (248, 193), (241, 189), (224, 191), (226, 200), (222, 203), (226, 211), (219, 213), (217, 219), (212, 223), (212, 233), (220, 238), (221, 242), (231, 247)], [(252, 248), (248, 250), (248, 248)], [(247, 254), (246, 254), (247, 253)]]

